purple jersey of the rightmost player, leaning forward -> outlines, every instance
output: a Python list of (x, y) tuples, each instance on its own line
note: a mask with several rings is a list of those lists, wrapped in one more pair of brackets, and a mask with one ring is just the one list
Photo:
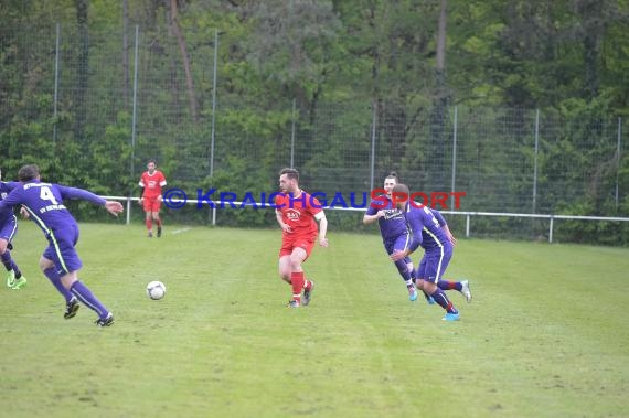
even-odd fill
[(416, 207), (415, 205), (407, 204), (405, 216), (413, 232), (411, 251), (416, 250), (419, 246), (426, 251), (452, 246), (441, 228), (439, 219), (429, 207)]

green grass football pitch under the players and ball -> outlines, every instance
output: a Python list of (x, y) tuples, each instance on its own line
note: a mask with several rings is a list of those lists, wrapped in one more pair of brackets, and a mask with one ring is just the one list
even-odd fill
[(85, 307), (63, 320), (22, 222), (29, 285), (0, 288), (0, 416), (629, 416), (628, 249), (460, 240), (446, 276), (475, 299), (450, 292), (461, 321), (446, 323), (407, 300), (377, 236), (329, 238), (306, 264), (312, 304), (289, 310), (278, 231), (84, 224), (82, 280), (116, 314), (98, 329)]

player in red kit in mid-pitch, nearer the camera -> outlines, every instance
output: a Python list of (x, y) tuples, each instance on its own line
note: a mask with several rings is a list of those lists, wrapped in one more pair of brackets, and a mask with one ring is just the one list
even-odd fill
[(328, 219), (319, 201), (299, 189), (299, 171), (282, 169), (279, 189), (282, 194), (275, 197), (275, 215), (282, 232), (279, 277), (292, 286), (292, 300), (288, 306), (299, 308), (310, 303), (314, 287), (312, 280), (306, 279), (301, 265), (310, 256), (316, 240), (328, 247)]

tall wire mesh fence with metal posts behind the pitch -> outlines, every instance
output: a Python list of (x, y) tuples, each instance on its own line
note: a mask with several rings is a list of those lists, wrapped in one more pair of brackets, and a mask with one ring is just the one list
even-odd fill
[[(192, 199), (210, 187), (270, 193), (278, 170), (296, 167), (306, 190), (332, 196), (370, 193), (396, 171), (413, 191), (465, 192), (460, 207), (448, 201), (455, 212), (629, 211), (625, 121), (597, 109), (566, 116), (360, 99), (262, 108), (222, 78), (237, 68), (217, 61), (220, 36), (211, 29), (186, 32), (184, 47), (172, 33), (139, 28), (126, 36), (58, 25), (0, 36), (20, 41), (2, 53), (3, 74), (11, 75), (0, 82), (7, 178), (14, 176), (7, 169), (39, 161), (52, 181), (134, 196), (146, 161), (157, 159), (169, 184)], [(177, 221), (206, 222), (192, 208), (170, 212)], [(268, 213), (220, 216), (227, 224), (274, 222)], [(546, 229), (541, 221), (509, 223), (508, 236)], [(495, 225), (487, 221), (486, 229)]]

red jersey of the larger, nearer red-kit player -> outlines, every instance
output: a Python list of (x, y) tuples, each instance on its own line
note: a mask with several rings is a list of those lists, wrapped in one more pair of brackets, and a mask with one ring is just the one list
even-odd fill
[(301, 191), (298, 196), (290, 197), (289, 194), (278, 194), (275, 196), (276, 210), (281, 213), (281, 221), (290, 226), (291, 233), (284, 232), (284, 236), (313, 236), (318, 234), (314, 216), (322, 212), (321, 203), (317, 197)]

